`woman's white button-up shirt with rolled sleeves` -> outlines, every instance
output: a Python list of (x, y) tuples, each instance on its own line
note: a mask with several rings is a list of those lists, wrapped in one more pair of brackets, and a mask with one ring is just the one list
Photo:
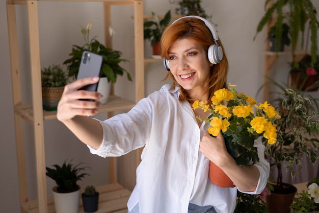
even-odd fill
[[(128, 200), (131, 210), (139, 203), (140, 213), (187, 213), (189, 203), (212, 205), (218, 213), (232, 213), (237, 188), (221, 188), (208, 178), (209, 160), (199, 151), (199, 142), (209, 124), (198, 127), (190, 104), (178, 101), (179, 90), (164, 85), (142, 99), (128, 113), (100, 121), (104, 138), (93, 154), (120, 156), (143, 149), (137, 168), (137, 184)], [(269, 177), (264, 146), (255, 141), (259, 163), (259, 194)]]

